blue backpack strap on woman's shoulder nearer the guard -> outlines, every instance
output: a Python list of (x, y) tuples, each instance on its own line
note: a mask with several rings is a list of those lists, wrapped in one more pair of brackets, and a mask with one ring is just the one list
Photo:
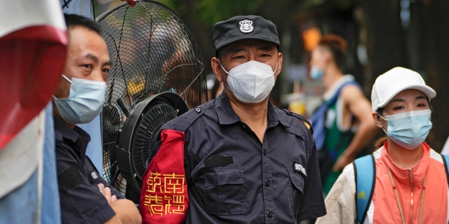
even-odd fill
[(368, 211), (368, 204), (373, 199), (376, 167), (373, 154), (365, 155), (352, 162), (356, 182), (357, 223), (363, 223)]

